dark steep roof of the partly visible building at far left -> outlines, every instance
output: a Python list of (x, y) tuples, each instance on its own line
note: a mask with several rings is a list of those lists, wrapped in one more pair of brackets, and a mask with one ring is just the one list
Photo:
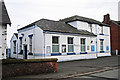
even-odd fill
[(3, 0), (0, 1), (0, 24), (11, 24), (11, 21)]

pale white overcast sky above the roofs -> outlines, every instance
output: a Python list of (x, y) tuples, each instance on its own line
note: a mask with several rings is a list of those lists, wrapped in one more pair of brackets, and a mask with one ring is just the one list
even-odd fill
[(12, 25), (8, 27), (7, 45), (17, 29), (45, 18), (59, 20), (79, 15), (103, 21), (109, 13), (112, 20), (118, 20), (120, 0), (4, 0)]

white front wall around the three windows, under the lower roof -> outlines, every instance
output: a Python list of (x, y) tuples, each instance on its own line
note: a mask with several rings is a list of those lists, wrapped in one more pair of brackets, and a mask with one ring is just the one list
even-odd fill
[[(66, 45), (66, 53), (68, 53), (68, 44), (67, 44), (67, 38), (68, 37), (73, 37), (74, 38), (74, 53), (80, 53), (80, 39), (85, 38), (86, 39), (86, 52), (91, 52), (91, 45), (95, 45), (95, 37), (87, 37), (87, 36), (74, 36), (74, 35), (65, 35), (65, 34), (45, 34), (45, 47), (50, 46), (51, 47), (51, 52), (52, 53), (52, 36), (58, 36), (59, 37), (59, 53), (62, 53), (61, 47), (62, 45)], [(49, 41), (48, 41), (49, 40)], [(93, 43), (91, 43), (91, 40)], [(87, 50), (87, 46), (89, 46), (89, 50)], [(96, 49), (95, 49), (96, 50)], [(47, 51), (46, 51), (47, 52)], [(65, 54), (66, 54), (65, 53)], [(47, 54), (47, 53), (46, 53)]]

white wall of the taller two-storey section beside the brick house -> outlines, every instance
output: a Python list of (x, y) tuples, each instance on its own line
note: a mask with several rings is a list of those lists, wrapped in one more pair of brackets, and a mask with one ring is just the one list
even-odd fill
[[(75, 23), (77, 25), (74, 25)], [(87, 31), (91, 32), (89, 24), (87, 22), (74, 21), (74, 22), (70, 22), (69, 24), (75, 26), (78, 30), (87, 30)], [(102, 27), (103, 27), (103, 34), (100, 35)], [(100, 51), (100, 39), (104, 39), (104, 51), (106, 52), (106, 46), (109, 46), (109, 55), (111, 55), (110, 54), (110, 48), (111, 48), (110, 47), (110, 27), (107, 27), (107, 26), (102, 26), (102, 27), (99, 26), (98, 24), (92, 24), (92, 33), (97, 35), (96, 40), (94, 40), (94, 41), (97, 41), (97, 44), (95, 43), (97, 46), (95, 46), (95, 47), (97, 48), (97, 52), (99, 53), (99, 51)], [(88, 41), (89, 40), (90, 39), (88, 39)], [(89, 43), (87, 43), (87, 44), (89, 44)]]

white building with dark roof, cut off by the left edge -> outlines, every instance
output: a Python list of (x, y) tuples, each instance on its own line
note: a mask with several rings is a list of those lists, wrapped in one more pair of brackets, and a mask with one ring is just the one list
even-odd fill
[(0, 1), (0, 59), (6, 58), (7, 25), (11, 24), (4, 2)]

